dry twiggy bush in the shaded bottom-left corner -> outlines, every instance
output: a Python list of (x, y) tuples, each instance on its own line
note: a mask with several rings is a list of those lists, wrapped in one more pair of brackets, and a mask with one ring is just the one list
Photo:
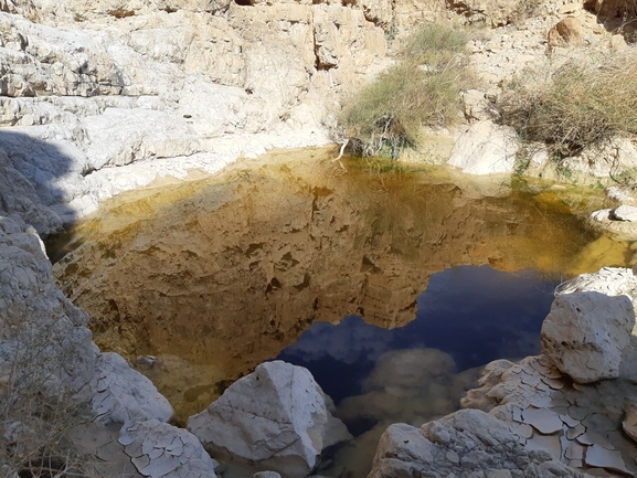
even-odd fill
[[(91, 419), (88, 405), (74, 403), (51, 365), (66, 360), (52, 353), (61, 341), (55, 325), (24, 323), (19, 341), (0, 350), (0, 476), (86, 476), (85, 460), (67, 440), (67, 432)], [(54, 393), (52, 393), (54, 391)]]

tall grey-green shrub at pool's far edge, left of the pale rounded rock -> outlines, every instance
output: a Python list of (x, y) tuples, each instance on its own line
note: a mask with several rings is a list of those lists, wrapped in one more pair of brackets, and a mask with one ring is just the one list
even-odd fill
[(355, 153), (396, 158), (415, 147), (423, 126), (446, 126), (459, 115), (466, 36), (428, 24), (411, 36), (399, 62), (346, 105), (339, 117)]

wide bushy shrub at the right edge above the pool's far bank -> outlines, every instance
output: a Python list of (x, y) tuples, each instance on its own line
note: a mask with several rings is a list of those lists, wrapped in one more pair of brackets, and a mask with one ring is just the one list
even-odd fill
[(543, 81), (509, 85), (498, 107), (502, 123), (523, 140), (542, 141), (558, 158), (637, 134), (637, 60), (629, 55), (601, 64), (570, 63)]

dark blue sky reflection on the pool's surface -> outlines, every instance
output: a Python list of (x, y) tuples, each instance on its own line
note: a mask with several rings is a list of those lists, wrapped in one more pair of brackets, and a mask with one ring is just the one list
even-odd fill
[(360, 394), (378, 358), (392, 350), (439, 349), (454, 358), (458, 372), (537, 354), (556, 285), (532, 270), (454, 267), (431, 277), (407, 326), (386, 330), (357, 316), (337, 326), (316, 322), (277, 359), (309, 369), (338, 404)]

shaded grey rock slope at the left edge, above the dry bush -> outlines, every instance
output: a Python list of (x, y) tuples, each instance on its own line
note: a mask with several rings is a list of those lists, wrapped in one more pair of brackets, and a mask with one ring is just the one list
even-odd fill
[(97, 352), (87, 321), (55, 287), (33, 227), (0, 216), (0, 383), (82, 399)]

